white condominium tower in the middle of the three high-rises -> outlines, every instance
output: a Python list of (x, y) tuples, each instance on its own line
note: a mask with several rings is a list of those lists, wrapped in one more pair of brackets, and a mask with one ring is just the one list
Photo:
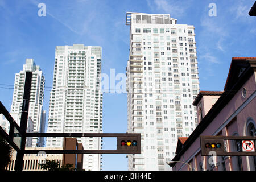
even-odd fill
[[(101, 47), (56, 46), (47, 133), (102, 133)], [(101, 138), (77, 138), (84, 150), (101, 150)], [(62, 147), (63, 137), (47, 137)], [(101, 155), (84, 155), (84, 169), (101, 169)]]

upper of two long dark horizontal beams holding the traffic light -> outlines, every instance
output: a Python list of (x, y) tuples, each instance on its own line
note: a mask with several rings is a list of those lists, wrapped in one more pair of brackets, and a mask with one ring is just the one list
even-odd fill
[(27, 133), (26, 137), (138, 137), (138, 133)]

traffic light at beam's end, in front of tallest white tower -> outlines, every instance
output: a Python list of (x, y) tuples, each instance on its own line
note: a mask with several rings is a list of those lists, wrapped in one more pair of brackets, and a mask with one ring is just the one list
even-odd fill
[(117, 137), (117, 150), (126, 151), (126, 154), (141, 153), (141, 138), (137, 136)]

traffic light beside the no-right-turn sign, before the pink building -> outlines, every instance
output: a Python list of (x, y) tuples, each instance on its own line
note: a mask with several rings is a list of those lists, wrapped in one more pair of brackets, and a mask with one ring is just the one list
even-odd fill
[(214, 136), (200, 137), (201, 140), (201, 154), (209, 155), (210, 151), (216, 152), (216, 154), (222, 154), (224, 152), (223, 139), (216, 139)]

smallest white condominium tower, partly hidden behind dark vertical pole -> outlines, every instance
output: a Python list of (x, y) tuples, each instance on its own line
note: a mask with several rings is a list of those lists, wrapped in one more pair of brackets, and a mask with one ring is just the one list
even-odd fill
[[(20, 124), (24, 84), (27, 71), (32, 72), (28, 117), (33, 121), (33, 132), (44, 133), (46, 124), (46, 111), (43, 110), (45, 80), (42, 70), (35, 64), (34, 59), (26, 59), (26, 64), (23, 65), (22, 71), (15, 74), (13, 103), (11, 104), (10, 113), (19, 113), (18, 121), (16, 122)], [(33, 137), (32, 147), (43, 147), (43, 145), (43, 138)]]

